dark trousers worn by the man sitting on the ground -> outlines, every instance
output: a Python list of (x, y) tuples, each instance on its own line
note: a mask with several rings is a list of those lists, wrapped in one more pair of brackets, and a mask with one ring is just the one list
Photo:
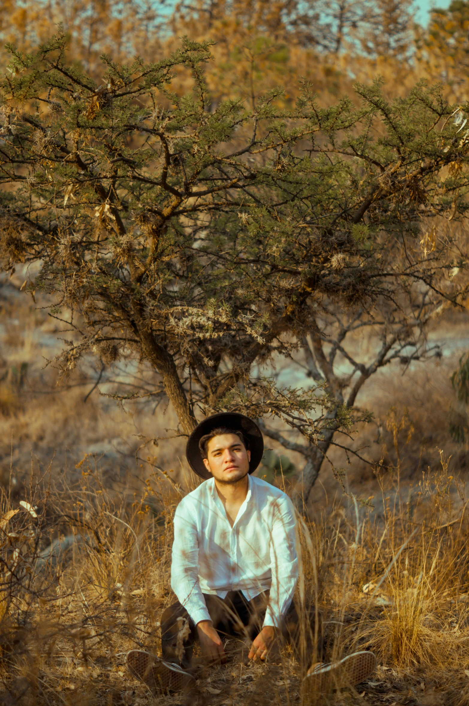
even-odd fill
[[(223, 639), (226, 636), (247, 639), (250, 642), (262, 630), (265, 611), (269, 602), (269, 591), (261, 593), (252, 600), (245, 599), (240, 591), (230, 591), (224, 599), (212, 594), (203, 594), (207, 611), (215, 630)], [(307, 616), (307, 628), (302, 626), (298, 611), (292, 603), (286, 611), (281, 624), (281, 636), (289, 642), (300, 659), (300, 644), (309, 643), (312, 657), (312, 636), (314, 630), (314, 615)], [(179, 662), (186, 669), (190, 667), (193, 647), (197, 640), (197, 628), (189, 617), (188, 611), (181, 603), (174, 603), (166, 608), (162, 615), (162, 654), (168, 662)], [(302, 629), (303, 628), (303, 629)], [(301, 634), (306, 640), (301, 639)]]

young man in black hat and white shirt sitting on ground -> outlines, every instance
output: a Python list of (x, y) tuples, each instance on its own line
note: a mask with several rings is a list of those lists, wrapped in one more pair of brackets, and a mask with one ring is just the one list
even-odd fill
[[(208, 663), (226, 661), (226, 636), (248, 640), (254, 661), (266, 659), (276, 638), (298, 650), (295, 511), (286, 493), (251, 475), (263, 452), (257, 424), (237, 413), (208, 417), (188, 440), (189, 465), (205, 482), (174, 516), (171, 588), (178, 602), (162, 615), (163, 661), (140, 650), (128, 654), (131, 671), (150, 686), (190, 683), (195, 642)], [(376, 663), (370, 652), (351, 657), (349, 681)], [(331, 665), (310, 671), (331, 674)]]

